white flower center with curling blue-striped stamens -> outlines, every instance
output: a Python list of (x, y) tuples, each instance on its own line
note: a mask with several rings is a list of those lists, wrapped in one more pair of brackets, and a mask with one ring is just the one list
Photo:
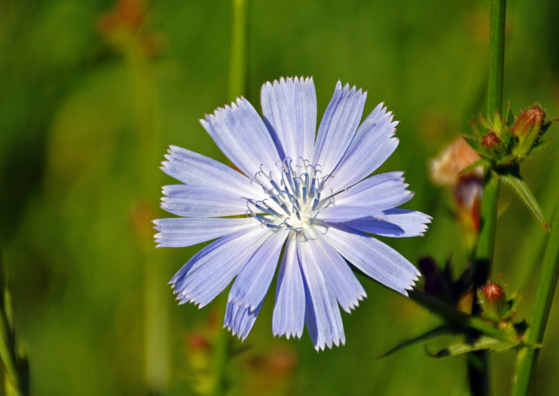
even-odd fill
[[(320, 202), (320, 183), (316, 175), (319, 165), (310, 165), (301, 159), (293, 165), (291, 158), (281, 161), (281, 180), (278, 183), (271, 173), (260, 168), (252, 179), (269, 198), (262, 201), (247, 199), (247, 215), (269, 228), (295, 231), (305, 230), (316, 220), (315, 210)], [(299, 173), (297, 173), (299, 171)]]

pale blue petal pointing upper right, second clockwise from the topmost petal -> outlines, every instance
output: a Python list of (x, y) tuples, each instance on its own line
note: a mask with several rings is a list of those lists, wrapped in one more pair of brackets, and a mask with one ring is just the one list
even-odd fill
[(383, 103), (369, 114), (357, 129), (347, 151), (327, 180), (333, 193), (350, 187), (373, 173), (398, 146), (397, 121), (392, 122), (392, 113), (386, 112)]

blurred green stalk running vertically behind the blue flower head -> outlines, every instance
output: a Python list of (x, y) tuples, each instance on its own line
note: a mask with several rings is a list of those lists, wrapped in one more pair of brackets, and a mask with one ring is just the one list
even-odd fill
[[(231, 58), (229, 64), (228, 100), (241, 96), (247, 90), (247, 22), (248, 0), (232, 0)], [(225, 315), (227, 296), (221, 294), (216, 301), (217, 317)], [(229, 362), (230, 336), (225, 330), (217, 330), (212, 349), (213, 387), (209, 394), (224, 394), (225, 368)]]

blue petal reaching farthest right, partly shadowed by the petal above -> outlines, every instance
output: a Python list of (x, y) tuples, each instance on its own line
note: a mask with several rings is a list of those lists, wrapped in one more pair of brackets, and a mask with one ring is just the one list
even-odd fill
[(432, 217), (428, 214), (408, 209), (395, 208), (389, 209), (384, 213), (386, 213), (386, 221), (375, 219), (354, 220), (345, 223), (345, 225), (376, 235), (404, 238), (423, 236), (427, 228), (429, 228), (427, 224), (432, 220)]

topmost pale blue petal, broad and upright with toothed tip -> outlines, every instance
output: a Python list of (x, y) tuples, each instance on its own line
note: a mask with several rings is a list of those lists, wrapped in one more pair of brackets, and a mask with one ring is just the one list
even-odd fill
[(316, 92), (312, 77), (267, 82), (260, 90), (264, 122), (281, 158), (310, 160), (316, 133)]

